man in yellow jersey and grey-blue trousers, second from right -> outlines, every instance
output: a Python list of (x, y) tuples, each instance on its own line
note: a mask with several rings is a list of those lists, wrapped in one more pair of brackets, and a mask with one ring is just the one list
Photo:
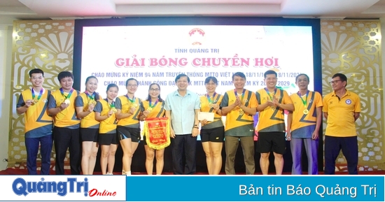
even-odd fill
[(295, 78), (299, 91), (291, 94), (294, 111), (288, 113), (286, 138), (290, 140), (293, 157), (292, 175), (302, 175), (302, 145), (307, 155), (307, 173), (318, 175), (318, 131), (322, 123), (322, 96), (308, 89), (309, 76), (300, 73)]

